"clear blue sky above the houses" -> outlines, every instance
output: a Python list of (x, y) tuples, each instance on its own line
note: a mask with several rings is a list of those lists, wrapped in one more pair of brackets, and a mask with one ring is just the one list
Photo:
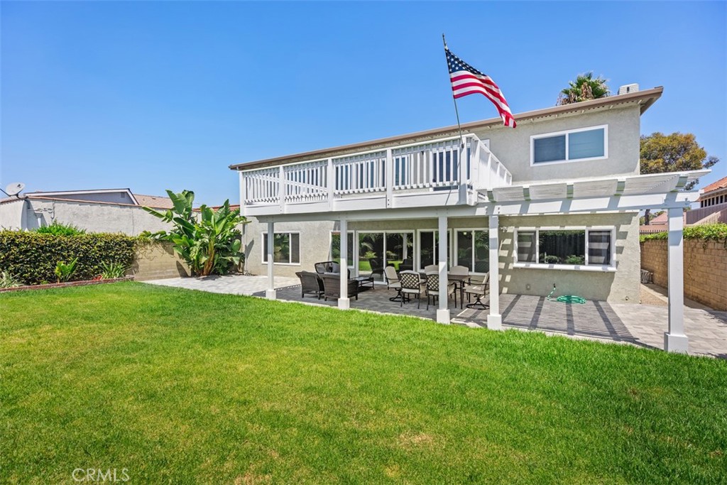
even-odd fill
[(229, 164), (454, 124), (446, 33), (513, 113), (585, 71), (663, 86), (642, 133), (693, 132), (722, 160), (704, 186), (727, 175), (726, 6), (2, 1), (0, 184), (237, 203)]

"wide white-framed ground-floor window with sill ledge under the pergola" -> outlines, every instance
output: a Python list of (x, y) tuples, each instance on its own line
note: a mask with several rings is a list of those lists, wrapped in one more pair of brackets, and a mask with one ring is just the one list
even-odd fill
[(515, 262), (614, 266), (613, 228), (534, 228), (516, 231)]

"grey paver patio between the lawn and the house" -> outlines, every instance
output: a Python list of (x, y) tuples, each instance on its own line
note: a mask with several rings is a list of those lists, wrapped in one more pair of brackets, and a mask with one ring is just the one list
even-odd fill
[[(150, 284), (177, 286), (215, 293), (246, 294), (265, 297), (267, 276), (210, 276), (207, 278), (170, 278), (145, 281)], [(336, 306), (337, 300), (325, 301), (321, 297), (301, 297), (298, 278), (275, 278), (278, 300), (303, 302), (310, 305)], [(395, 293), (385, 286), (366, 289), (358, 300), (350, 299), (350, 307), (379, 313), (394, 313), (436, 319), (436, 306), (427, 310), (426, 300), (419, 308), (412, 300), (404, 305), (389, 300)], [(488, 310), (457, 308), (450, 302), (452, 323), (470, 327), (486, 327)], [(505, 328), (536, 330), (547, 334), (561, 334), (576, 339), (599, 340), (664, 348), (667, 331), (667, 307), (637, 304), (609, 304), (588, 301), (585, 305), (570, 305), (548, 301), (545, 297), (500, 295), (502, 324)], [(684, 327), (689, 337), (689, 353), (727, 358), (727, 312), (704, 308), (684, 308)]]

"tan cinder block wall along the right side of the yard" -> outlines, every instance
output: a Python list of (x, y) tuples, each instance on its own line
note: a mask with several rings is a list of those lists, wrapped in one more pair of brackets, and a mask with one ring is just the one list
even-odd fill
[[(641, 243), (641, 268), (667, 287), (667, 241)], [(727, 310), (727, 249), (718, 241), (684, 240), (684, 295), (715, 310)]]

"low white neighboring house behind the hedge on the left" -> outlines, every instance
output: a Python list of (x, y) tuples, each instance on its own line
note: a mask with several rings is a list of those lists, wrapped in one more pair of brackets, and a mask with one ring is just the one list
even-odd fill
[(36, 191), (0, 201), (0, 228), (36, 229), (54, 221), (92, 232), (161, 231), (167, 224), (142, 209), (170, 209), (168, 197), (145, 196), (128, 188), (87, 191)]

